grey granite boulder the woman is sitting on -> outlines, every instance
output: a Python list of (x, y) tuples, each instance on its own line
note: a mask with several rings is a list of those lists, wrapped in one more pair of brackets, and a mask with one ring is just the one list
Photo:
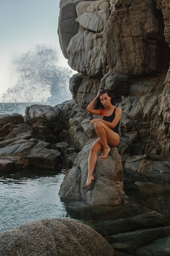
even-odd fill
[(123, 168), (117, 148), (112, 148), (107, 159), (98, 159), (94, 172), (95, 180), (90, 186), (85, 186), (92, 143), (93, 141), (83, 147), (72, 169), (67, 171), (60, 186), (60, 198), (65, 202), (85, 200), (92, 206), (118, 205), (125, 201), (125, 193), (123, 192)]

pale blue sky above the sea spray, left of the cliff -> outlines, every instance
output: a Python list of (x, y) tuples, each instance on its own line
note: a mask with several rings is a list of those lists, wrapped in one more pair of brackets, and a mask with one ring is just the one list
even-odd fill
[(56, 46), (59, 65), (69, 67), (58, 40), (59, 5), (60, 0), (0, 0), (0, 97), (11, 85), (12, 56), (36, 44)]

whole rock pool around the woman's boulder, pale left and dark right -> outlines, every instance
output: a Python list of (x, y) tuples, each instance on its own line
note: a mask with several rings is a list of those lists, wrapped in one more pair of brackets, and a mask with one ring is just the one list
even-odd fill
[[(50, 171), (32, 168), (0, 177), (0, 231), (30, 220), (53, 217), (74, 218), (87, 225), (151, 211), (170, 218), (169, 184), (162, 182), (163, 188), (152, 185), (150, 189), (147, 177), (124, 173), (124, 191), (128, 195), (128, 202), (116, 207), (91, 207), (83, 201), (60, 201), (58, 191), (64, 175), (64, 169)], [(137, 186), (136, 180), (143, 182), (143, 186)], [(154, 182), (160, 185), (160, 180)]]

